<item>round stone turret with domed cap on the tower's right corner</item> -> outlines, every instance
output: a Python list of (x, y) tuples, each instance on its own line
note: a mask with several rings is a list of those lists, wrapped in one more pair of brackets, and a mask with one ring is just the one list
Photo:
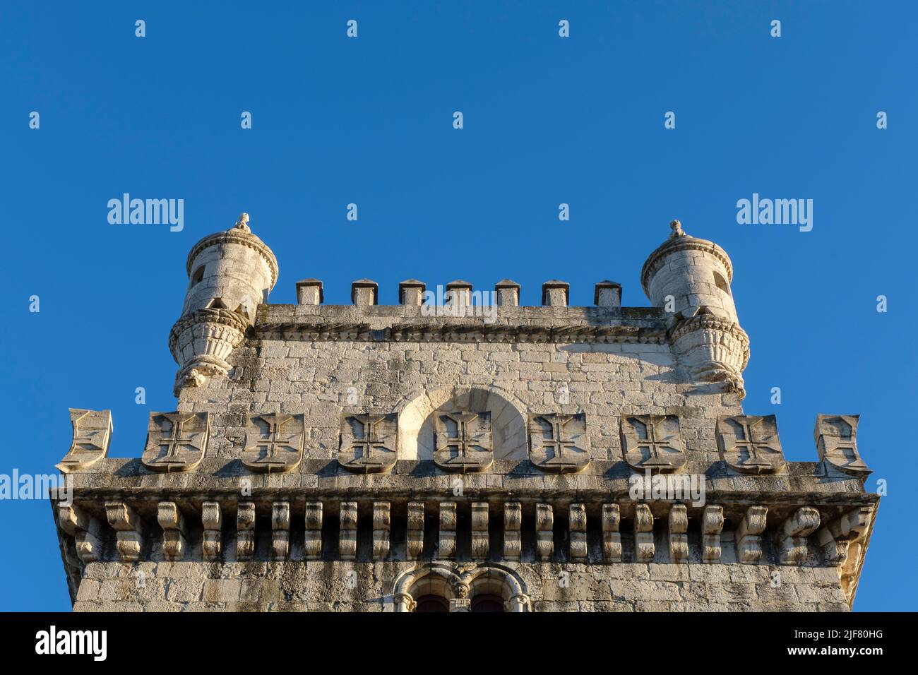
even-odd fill
[(644, 263), (644, 293), (666, 311), (673, 351), (689, 376), (744, 395), (749, 338), (733, 304), (730, 257), (716, 243), (690, 237), (678, 220), (670, 228)]

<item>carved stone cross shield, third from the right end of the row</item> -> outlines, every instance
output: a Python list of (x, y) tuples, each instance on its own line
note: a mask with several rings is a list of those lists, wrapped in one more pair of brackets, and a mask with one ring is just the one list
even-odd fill
[(675, 471), (687, 459), (676, 415), (623, 415), (621, 449), (625, 461), (640, 471)]

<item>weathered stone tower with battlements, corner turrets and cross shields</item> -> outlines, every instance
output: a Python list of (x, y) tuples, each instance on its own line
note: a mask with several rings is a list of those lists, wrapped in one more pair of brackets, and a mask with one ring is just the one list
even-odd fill
[[(52, 498), (81, 610), (543, 612), (849, 609), (879, 496), (856, 415), (819, 415), (812, 462), (746, 415), (749, 341), (714, 243), (678, 221), (653, 307), (563, 281), (520, 305), (464, 281), (326, 305), (243, 214), (188, 256), (170, 333), (175, 411), (139, 459), (109, 411), (71, 411)], [(380, 298), (397, 298), (381, 305)]]

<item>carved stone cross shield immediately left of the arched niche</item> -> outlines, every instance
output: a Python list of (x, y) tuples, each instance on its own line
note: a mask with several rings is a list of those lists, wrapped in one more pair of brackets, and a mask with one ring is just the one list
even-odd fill
[(398, 456), (397, 434), (394, 413), (345, 415), (338, 463), (355, 473), (388, 471)]

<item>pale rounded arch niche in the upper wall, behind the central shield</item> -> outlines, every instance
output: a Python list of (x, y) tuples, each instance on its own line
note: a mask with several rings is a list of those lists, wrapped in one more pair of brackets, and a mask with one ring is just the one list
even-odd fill
[(432, 459), (434, 415), (490, 412), (495, 459), (525, 459), (526, 415), (521, 401), (494, 387), (451, 387), (420, 391), (398, 412), (398, 458)]

